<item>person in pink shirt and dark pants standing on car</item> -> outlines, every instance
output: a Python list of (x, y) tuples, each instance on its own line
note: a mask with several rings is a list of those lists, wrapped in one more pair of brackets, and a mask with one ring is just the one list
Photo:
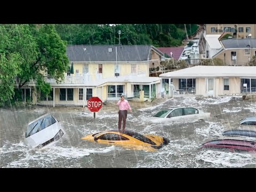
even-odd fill
[(119, 111), (118, 111), (118, 130), (121, 130), (121, 124), (123, 121), (123, 131), (125, 130), (125, 123), (126, 123), (126, 118), (127, 118), (127, 110), (129, 109), (132, 111), (132, 108), (127, 100), (124, 99), (124, 95), (121, 95), (121, 99), (116, 103), (116, 105), (119, 106)]

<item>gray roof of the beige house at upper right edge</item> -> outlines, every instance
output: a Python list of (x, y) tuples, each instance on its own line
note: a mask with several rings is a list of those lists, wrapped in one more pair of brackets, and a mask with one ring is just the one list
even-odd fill
[(255, 38), (223, 39), (221, 40), (221, 43), (225, 47), (225, 49), (256, 48)]

